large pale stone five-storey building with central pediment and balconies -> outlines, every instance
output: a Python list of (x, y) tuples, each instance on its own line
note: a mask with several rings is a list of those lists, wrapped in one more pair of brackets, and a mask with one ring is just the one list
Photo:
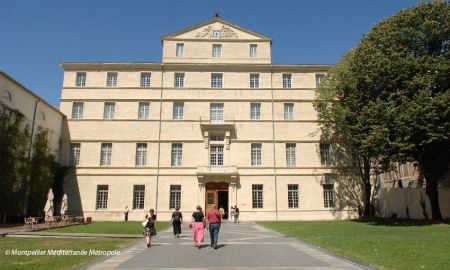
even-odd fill
[(219, 17), (162, 37), (162, 63), (64, 62), (70, 211), (237, 205), (245, 220), (332, 219), (312, 102), (329, 65), (272, 64), (272, 39)]

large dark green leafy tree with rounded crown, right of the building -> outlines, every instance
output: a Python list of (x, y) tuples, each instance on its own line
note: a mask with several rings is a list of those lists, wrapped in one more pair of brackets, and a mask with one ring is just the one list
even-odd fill
[(437, 187), (450, 166), (449, 38), (447, 2), (403, 10), (362, 38), (342, 60), (345, 65), (337, 65), (342, 76), (331, 72), (329, 94), (322, 95), (339, 100), (325, 110), (343, 108), (337, 123), (349, 127), (347, 138), (360, 154), (378, 164), (418, 166), (436, 220), (442, 219)]

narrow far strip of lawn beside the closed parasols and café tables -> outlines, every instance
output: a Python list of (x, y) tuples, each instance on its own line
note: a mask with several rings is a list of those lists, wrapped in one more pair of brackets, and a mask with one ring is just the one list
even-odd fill
[[(162, 231), (169, 227), (169, 222), (156, 222), (156, 231)], [(110, 234), (141, 234), (143, 227), (139, 221), (94, 221), (91, 224), (75, 225), (63, 228), (42, 230), (41, 232), (62, 233), (110, 233)]]

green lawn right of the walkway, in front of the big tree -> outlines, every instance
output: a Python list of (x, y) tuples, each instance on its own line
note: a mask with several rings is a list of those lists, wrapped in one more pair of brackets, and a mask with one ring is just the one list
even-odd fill
[(449, 224), (389, 220), (260, 224), (381, 269), (450, 267)]

